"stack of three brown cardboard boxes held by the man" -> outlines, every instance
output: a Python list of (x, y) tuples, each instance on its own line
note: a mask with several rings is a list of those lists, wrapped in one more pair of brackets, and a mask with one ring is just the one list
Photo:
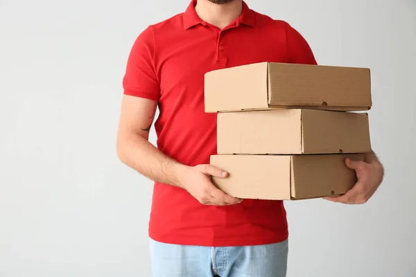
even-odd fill
[(234, 197), (309, 199), (355, 184), (345, 158), (371, 151), (370, 70), (262, 62), (205, 75), (205, 111), (218, 113), (214, 184)]

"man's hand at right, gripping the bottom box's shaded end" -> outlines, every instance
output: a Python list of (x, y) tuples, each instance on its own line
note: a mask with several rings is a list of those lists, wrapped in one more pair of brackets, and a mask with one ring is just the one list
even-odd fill
[(345, 159), (345, 164), (356, 171), (358, 181), (351, 190), (338, 197), (325, 197), (332, 202), (343, 204), (364, 204), (379, 188), (383, 181), (383, 166), (374, 153), (365, 154), (364, 161)]

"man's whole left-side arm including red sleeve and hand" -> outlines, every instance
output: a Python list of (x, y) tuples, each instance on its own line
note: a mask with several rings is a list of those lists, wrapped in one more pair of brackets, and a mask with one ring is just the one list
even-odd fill
[(227, 172), (210, 165), (184, 166), (149, 143), (149, 130), (160, 96), (156, 53), (153, 29), (149, 27), (133, 44), (123, 78), (124, 96), (117, 134), (119, 158), (153, 181), (184, 188), (201, 204), (241, 202), (211, 183), (211, 176), (227, 177)]

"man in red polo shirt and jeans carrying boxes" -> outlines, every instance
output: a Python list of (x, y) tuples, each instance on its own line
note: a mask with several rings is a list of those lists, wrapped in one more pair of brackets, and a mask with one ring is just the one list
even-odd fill
[[(155, 181), (150, 215), (153, 276), (286, 276), (288, 226), (281, 201), (236, 199), (211, 183), (227, 172), (216, 154), (216, 114), (204, 112), (204, 73), (254, 62), (316, 64), (284, 21), (241, 0), (193, 0), (149, 26), (132, 46), (117, 141), (123, 163)], [(156, 108), (157, 148), (148, 142)], [(383, 178), (374, 153), (346, 161), (358, 183), (333, 202), (366, 202)]]

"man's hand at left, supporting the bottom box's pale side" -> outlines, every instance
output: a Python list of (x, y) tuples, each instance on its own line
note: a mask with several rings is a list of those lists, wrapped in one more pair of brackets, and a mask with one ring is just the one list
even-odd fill
[(187, 167), (179, 176), (180, 186), (203, 205), (225, 206), (239, 204), (241, 199), (231, 197), (211, 182), (211, 176), (226, 178), (228, 172), (210, 165)]

